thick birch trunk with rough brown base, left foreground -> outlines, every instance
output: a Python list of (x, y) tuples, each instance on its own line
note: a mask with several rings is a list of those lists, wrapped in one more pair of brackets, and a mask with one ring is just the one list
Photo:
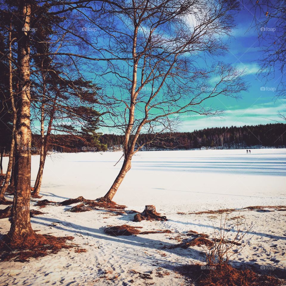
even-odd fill
[(23, 26), (18, 29), (18, 66), (20, 88), (17, 96), (17, 122), (15, 130), (15, 193), (13, 214), (8, 236), (12, 243), (19, 244), (34, 234), (29, 208), (31, 196), (31, 129), (30, 129), (30, 17), (31, 5), (20, 1), (19, 14)]

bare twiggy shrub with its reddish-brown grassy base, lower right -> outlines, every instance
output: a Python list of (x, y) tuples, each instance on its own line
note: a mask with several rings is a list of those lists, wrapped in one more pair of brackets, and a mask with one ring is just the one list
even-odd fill
[[(226, 216), (227, 217), (227, 216)], [(237, 217), (236, 230), (226, 231), (226, 217), (223, 222), (221, 216), (220, 228), (214, 226), (213, 245), (206, 252), (207, 265), (202, 267), (203, 273), (199, 277), (200, 286), (272, 286), (282, 285), (282, 280), (273, 276), (259, 275), (251, 269), (236, 269), (231, 266), (231, 262), (252, 237), (245, 241), (245, 235), (254, 227), (246, 225), (246, 221), (239, 223)]]

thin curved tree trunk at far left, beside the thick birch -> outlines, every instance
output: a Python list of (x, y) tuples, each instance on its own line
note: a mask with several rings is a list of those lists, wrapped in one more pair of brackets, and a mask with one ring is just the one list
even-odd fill
[[(11, 30), (11, 25), (10, 25)], [(12, 58), (12, 49), (11, 49), (11, 32), (9, 32), (9, 57)], [(14, 95), (13, 95), (13, 86), (12, 86), (12, 62), (9, 60), (9, 93), (10, 93), (10, 100), (11, 100), (11, 106), (13, 111), (13, 127), (12, 127), (12, 139), (11, 139), (11, 145), (10, 145), (10, 153), (9, 153), (9, 161), (8, 161), (8, 167), (6, 172), (6, 177), (4, 184), (1, 188), (0, 192), (0, 200), (4, 200), (5, 192), (7, 191), (11, 172), (12, 172), (12, 165), (13, 165), (13, 158), (14, 158), (14, 147), (15, 147), (15, 140), (14, 140), (14, 134), (16, 129), (16, 119), (17, 119), (17, 111), (15, 108), (15, 102), (14, 102)]]

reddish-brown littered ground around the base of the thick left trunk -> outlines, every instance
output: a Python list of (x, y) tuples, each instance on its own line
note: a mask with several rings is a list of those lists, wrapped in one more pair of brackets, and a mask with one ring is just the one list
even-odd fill
[(23, 240), (10, 240), (7, 235), (3, 235), (0, 241), (0, 260), (27, 262), (29, 258), (43, 257), (49, 254), (55, 254), (61, 249), (74, 247), (67, 244), (67, 240), (73, 240), (74, 237), (55, 237), (52, 235), (30, 234)]

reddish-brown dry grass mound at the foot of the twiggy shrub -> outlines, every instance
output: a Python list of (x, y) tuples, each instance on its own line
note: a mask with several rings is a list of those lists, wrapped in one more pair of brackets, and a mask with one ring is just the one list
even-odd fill
[(238, 270), (228, 264), (214, 265), (200, 276), (200, 286), (279, 286), (282, 281), (259, 275), (250, 269)]

